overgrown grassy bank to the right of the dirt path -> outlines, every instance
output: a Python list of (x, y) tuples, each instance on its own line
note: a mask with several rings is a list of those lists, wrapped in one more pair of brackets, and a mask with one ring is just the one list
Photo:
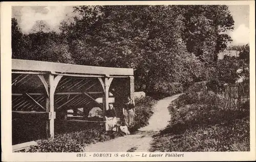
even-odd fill
[(188, 91), (168, 109), (166, 129), (154, 136), (151, 151), (249, 151), (249, 101), (226, 110), (221, 95)]

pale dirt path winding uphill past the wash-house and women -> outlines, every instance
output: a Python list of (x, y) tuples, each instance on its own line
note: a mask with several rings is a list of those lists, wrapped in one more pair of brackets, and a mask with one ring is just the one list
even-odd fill
[(126, 152), (137, 151), (147, 152), (151, 146), (152, 136), (157, 134), (160, 130), (164, 129), (170, 115), (168, 112), (168, 105), (170, 102), (178, 98), (181, 94), (166, 97), (159, 100), (154, 106), (154, 114), (148, 121), (149, 124), (140, 128), (136, 134), (129, 136), (119, 137), (106, 142), (98, 142), (96, 144), (88, 145), (85, 149), (86, 152)]

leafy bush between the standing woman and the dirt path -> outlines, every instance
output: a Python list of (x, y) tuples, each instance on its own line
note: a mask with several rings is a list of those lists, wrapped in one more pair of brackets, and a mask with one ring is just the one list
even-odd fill
[(137, 130), (148, 124), (148, 120), (153, 115), (153, 106), (155, 103), (156, 100), (149, 96), (135, 100), (135, 111), (137, 116), (135, 117), (133, 130)]

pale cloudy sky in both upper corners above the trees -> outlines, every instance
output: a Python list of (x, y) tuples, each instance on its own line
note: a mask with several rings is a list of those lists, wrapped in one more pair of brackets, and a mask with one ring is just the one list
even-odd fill
[[(249, 5), (228, 6), (234, 20), (234, 30), (228, 35), (232, 38), (231, 45), (249, 43)], [(12, 17), (18, 20), (23, 33), (31, 33), (37, 20), (44, 20), (51, 31), (59, 32), (62, 20), (72, 19), (72, 6), (16, 6), (12, 8)]]

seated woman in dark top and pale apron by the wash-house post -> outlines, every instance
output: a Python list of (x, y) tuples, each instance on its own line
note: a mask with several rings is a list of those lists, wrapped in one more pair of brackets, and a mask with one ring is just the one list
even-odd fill
[(115, 127), (115, 125), (117, 124), (116, 111), (112, 103), (109, 104), (109, 110), (106, 111), (105, 119), (106, 119), (106, 123), (105, 123), (106, 131), (108, 130), (116, 131), (116, 127)]

